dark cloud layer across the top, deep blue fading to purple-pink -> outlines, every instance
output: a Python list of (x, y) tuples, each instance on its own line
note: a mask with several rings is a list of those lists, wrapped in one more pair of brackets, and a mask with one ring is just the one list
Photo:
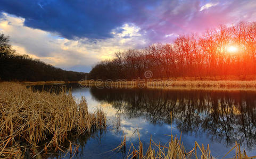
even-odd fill
[[(238, 0), (1, 1), (0, 10), (23, 17), (27, 27), (55, 32), (64, 38), (112, 38), (113, 29), (133, 23), (151, 42), (175, 38), (166, 37), (167, 34), (203, 31), (219, 24), (252, 19), (256, 10), (255, 2)], [(205, 4), (208, 5), (200, 10)]]

